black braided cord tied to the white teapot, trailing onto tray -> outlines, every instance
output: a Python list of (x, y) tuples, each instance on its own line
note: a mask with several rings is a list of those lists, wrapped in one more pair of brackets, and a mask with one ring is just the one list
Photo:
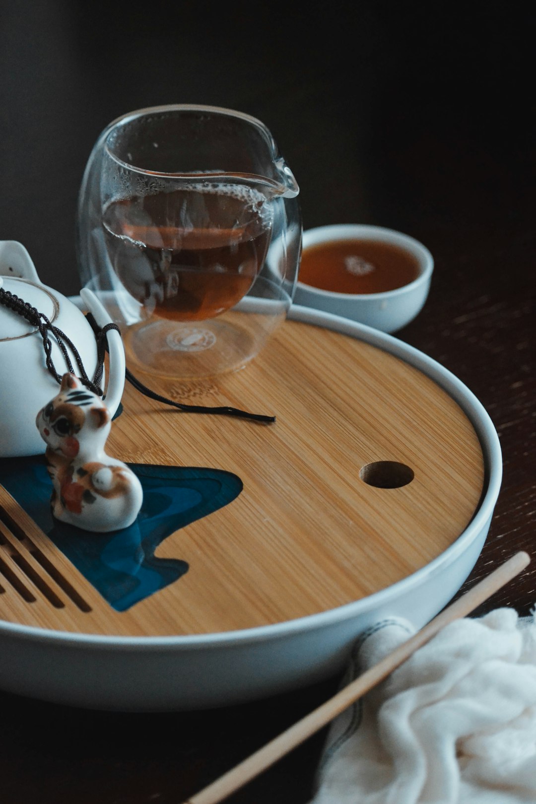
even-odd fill
[[(93, 376), (93, 379), (89, 379), (88, 374), (84, 368), (84, 363), (82, 363), (82, 358), (80, 357), (79, 351), (76, 349), (72, 340), (68, 338), (68, 336), (59, 329), (59, 327), (54, 326), (51, 321), (47, 318), (47, 316), (43, 313), (39, 313), (39, 310), (36, 310), (35, 307), (32, 307), (28, 301), (23, 301), (18, 296), (15, 296), (14, 293), (11, 293), (10, 290), (5, 290), (0, 287), (0, 304), (7, 307), (8, 310), (13, 310), (14, 313), (22, 316), (29, 322), (32, 326), (35, 326), (39, 330), (39, 334), (41, 338), (43, 338), (43, 348), (45, 351), (46, 356), (46, 364), (47, 369), (54, 377), (58, 384), (61, 383), (61, 377), (55, 369), (55, 365), (52, 361), (51, 351), (52, 351), (52, 343), (50, 334), (52, 334), (55, 338), (56, 343), (59, 346), (59, 349), (63, 355), (63, 359), (65, 360), (65, 364), (68, 367), (68, 371), (71, 374), (76, 374), (74, 367), (72, 366), (71, 358), (69, 357), (67, 346), (71, 349), (72, 354), (75, 356), (76, 364), (80, 371), (80, 381), (82, 384), (89, 388), (97, 396), (104, 396), (104, 391), (100, 388), (100, 382), (102, 380), (102, 375), (104, 371), (104, 355), (106, 351), (108, 351), (108, 341), (106, 338), (106, 334), (109, 330), (117, 330), (121, 334), (121, 330), (117, 326), (117, 324), (106, 324), (105, 326), (98, 326), (96, 323), (95, 318), (93, 318), (91, 313), (86, 313), (86, 318), (88, 319), (89, 324), (92, 327), (93, 332), (95, 333), (96, 337), (96, 350), (97, 350), (97, 361), (96, 361), (96, 370)], [(163, 402), (165, 404), (173, 405), (174, 408), (178, 408), (179, 410), (190, 412), (190, 413), (213, 413), (216, 415), (223, 415), (223, 416), (239, 416), (243, 419), (251, 419), (254, 421), (263, 421), (263, 422), (273, 422), (276, 420), (275, 416), (264, 416), (260, 413), (250, 413), (248, 411), (239, 410), (238, 408), (231, 408), (228, 405), (222, 405), (221, 407), (207, 407), (205, 405), (193, 405), (193, 404), (181, 404), (180, 402), (175, 402), (174, 400), (169, 400), (166, 396), (161, 396), (154, 391), (151, 391), (150, 388), (147, 388), (144, 384), (140, 382), (137, 377), (135, 377), (129, 369), (125, 371), (125, 377), (129, 380), (129, 383), (133, 385), (137, 391), (145, 394), (145, 396), (149, 396), (150, 399), (156, 400), (158, 402)]]

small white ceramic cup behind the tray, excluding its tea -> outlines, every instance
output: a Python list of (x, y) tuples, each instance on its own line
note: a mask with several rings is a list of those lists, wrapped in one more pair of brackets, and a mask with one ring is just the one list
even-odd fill
[(407, 285), (383, 293), (334, 293), (305, 285), (298, 273), (294, 303), (342, 315), (383, 332), (400, 330), (419, 314), (428, 297), (434, 269), (432, 254), (409, 235), (382, 226), (362, 224), (333, 224), (308, 229), (303, 233), (302, 249), (305, 251), (309, 246), (333, 240), (356, 239), (390, 243), (410, 252), (418, 261), (419, 276)]

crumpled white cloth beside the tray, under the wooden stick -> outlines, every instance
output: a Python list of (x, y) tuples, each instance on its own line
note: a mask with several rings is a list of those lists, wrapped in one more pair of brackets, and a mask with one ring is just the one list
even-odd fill
[[(415, 629), (379, 622), (344, 683)], [(444, 627), (333, 721), (310, 804), (536, 804), (536, 622), (513, 609)]]

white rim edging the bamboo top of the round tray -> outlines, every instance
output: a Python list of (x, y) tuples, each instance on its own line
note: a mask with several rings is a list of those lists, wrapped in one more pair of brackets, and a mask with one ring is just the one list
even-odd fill
[[(77, 297), (71, 297), (75, 303)], [(395, 357), (403, 359), (443, 388), (444, 391), (460, 405), (460, 408), (471, 421), (479, 440), (485, 460), (485, 492), (473, 519), (458, 538), (436, 559), (397, 581), (386, 589), (381, 589), (358, 601), (352, 601), (335, 609), (328, 609), (306, 617), (272, 623), (268, 626), (257, 626), (242, 630), (222, 631), (211, 634), (182, 634), (154, 637), (117, 636), (111, 634), (80, 634), (68, 631), (59, 631), (39, 628), (36, 626), (23, 626), (18, 623), (0, 621), (0, 634), (18, 636), (23, 640), (32, 642), (47, 642), (56, 645), (76, 645), (78, 648), (104, 648), (113, 650), (136, 651), (162, 651), (173, 650), (180, 653), (182, 650), (211, 649), (215, 646), (245, 646), (259, 642), (271, 642), (286, 636), (306, 631), (324, 629), (338, 622), (362, 615), (371, 609), (387, 605), (393, 598), (400, 597), (411, 591), (423, 582), (444, 572), (450, 564), (467, 550), (473, 540), (478, 539), (483, 531), (487, 532), (489, 520), (497, 503), (502, 479), (502, 453), (499, 437), (488, 412), (456, 375), (444, 368), (436, 360), (423, 352), (409, 346), (395, 336), (375, 330), (365, 324), (350, 321), (348, 318), (325, 313), (312, 308), (293, 305), (288, 313), (288, 320), (303, 322), (314, 326), (323, 326), (326, 329), (358, 338), (371, 346), (383, 349)]]

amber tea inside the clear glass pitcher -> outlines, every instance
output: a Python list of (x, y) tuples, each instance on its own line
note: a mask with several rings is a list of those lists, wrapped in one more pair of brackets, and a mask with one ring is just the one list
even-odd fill
[(248, 293), (268, 252), (272, 217), (252, 187), (193, 185), (113, 201), (103, 227), (117, 277), (146, 310), (200, 321)]

